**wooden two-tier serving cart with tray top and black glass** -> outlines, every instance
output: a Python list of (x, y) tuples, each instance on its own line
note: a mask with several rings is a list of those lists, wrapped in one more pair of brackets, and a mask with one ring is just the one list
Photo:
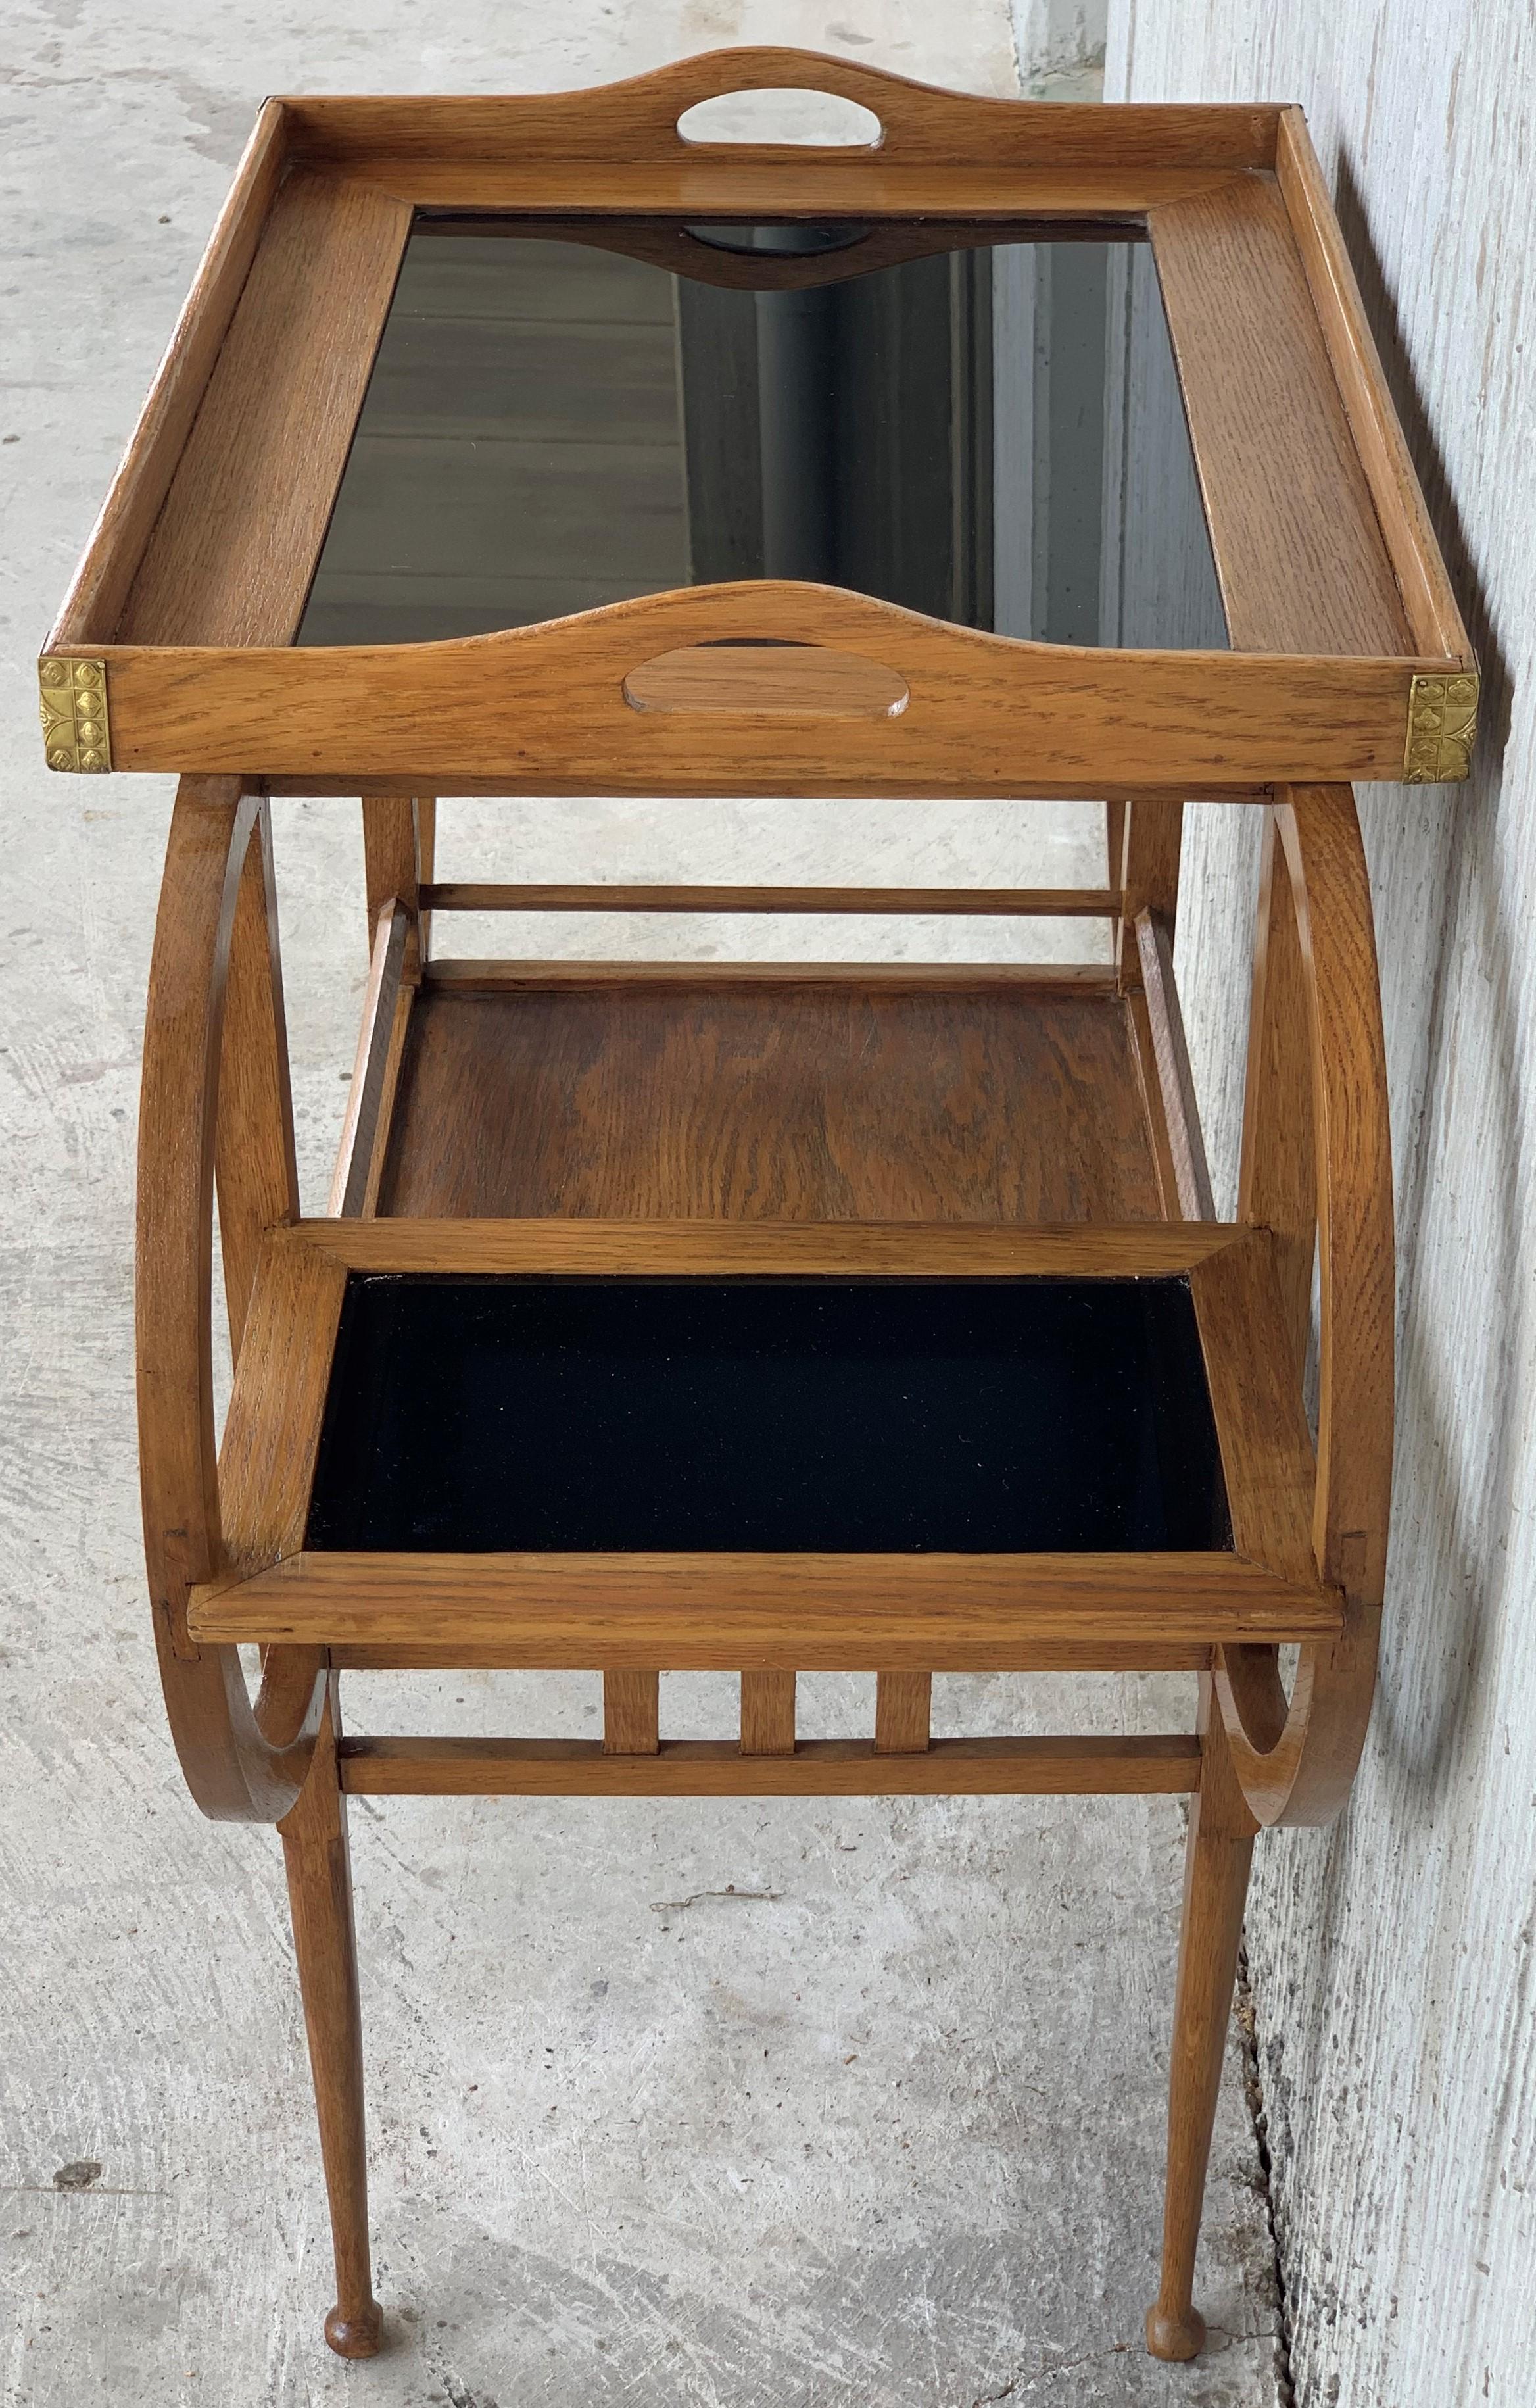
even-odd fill
[[(775, 87), (881, 140), (679, 130)], [(1300, 113), (985, 101), (797, 51), (270, 101), (41, 694), (55, 768), (183, 773), (144, 1534), (193, 1794), (284, 1835), (332, 2348), (380, 2343), (347, 1794), (1189, 1792), (1148, 2345), (1194, 2355), (1254, 1832), (1346, 1796), (1382, 1609), (1392, 1185), (1348, 780), (1464, 775), (1476, 715)], [(361, 795), (368, 862), (308, 1218), (279, 792)], [(1110, 869), (441, 881), (436, 797), (477, 792), (1081, 797)], [(1233, 1221), (1172, 978), (1187, 797), (1269, 824)], [(1107, 958), (443, 956), (486, 910), (1054, 915)], [(443, 1664), (602, 1669), (604, 1736), (344, 1734), (344, 1671)], [(662, 1669), (739, 1671), (739, 1731), (667, 1739)], [(874, 1669), (874, 1729), (797, 1739), (799, 1669)], [(975, 1669), (1189, 1669), (1199, 1712), (934, 1741), (932, 1674)]]

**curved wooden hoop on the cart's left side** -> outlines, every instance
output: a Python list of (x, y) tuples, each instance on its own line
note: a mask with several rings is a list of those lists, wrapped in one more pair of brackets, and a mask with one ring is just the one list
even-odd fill
[[(277, 975), (272, 929), (267, 807), (243, 795), (236, 778), (183, 778), (154, 922), (140, 1091), (140, 1481), (154, 1640), (176, 1753), (202, 1811), (238, 1823), (274, 1823), (289, 1811), (325, 1705), (315, 1649), (267, 1649), (253, 1707), (238, 1647), (197, 1647), (188, 1637), (193, 1582), (212, 1580), (224, 1551), (212, 1211), (231, 951), (231, 1014), (248, 1026), (262, 1007), (262, 978)], [(279, 1033), (282, 1007), (272, 987), (265, 1011)], [(231, 1088), (238, 1086), (231, 1079)], [(250, 1105), (248, 1093), (231, 1100), (236, 1117)], [(286, 1076), (277, 1100), (286, 1110)], [(221, 1190), (234, 1192), (234, 1165), (226, 1170), (221, 1161), (219, 1170)], [(289, 1197), (286, 1214), (277, 1216), (291, 1218), (294, 1209), (296, 1197)]]

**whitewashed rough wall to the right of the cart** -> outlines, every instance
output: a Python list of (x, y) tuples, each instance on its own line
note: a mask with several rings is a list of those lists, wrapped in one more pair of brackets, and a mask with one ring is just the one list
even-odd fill
[[(1399, 1197), (1382, 1695), (1250, 1914), (1302, 2408), (1536, 2394), (1531, 12), (1115, 0), (1112, 99), (1302, 101), (1485, 674), (1471, 785), (1360, 797)], [(1180, 954), (1230, 1206), (1254, 828), (1197, 814)]]

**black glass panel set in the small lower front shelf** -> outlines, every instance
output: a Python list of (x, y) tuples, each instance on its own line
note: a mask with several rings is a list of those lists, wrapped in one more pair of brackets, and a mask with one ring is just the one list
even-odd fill
[(354, 1271), (306, 1546), (1100, 1553), (1230, 1524), (1187, 1279)]

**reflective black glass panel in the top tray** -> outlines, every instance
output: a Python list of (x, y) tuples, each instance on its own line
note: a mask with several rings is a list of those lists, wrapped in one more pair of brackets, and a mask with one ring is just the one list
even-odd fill
[(1225, 645), (1148, 246), (417, 219), (299, 643), (737, 578)]

